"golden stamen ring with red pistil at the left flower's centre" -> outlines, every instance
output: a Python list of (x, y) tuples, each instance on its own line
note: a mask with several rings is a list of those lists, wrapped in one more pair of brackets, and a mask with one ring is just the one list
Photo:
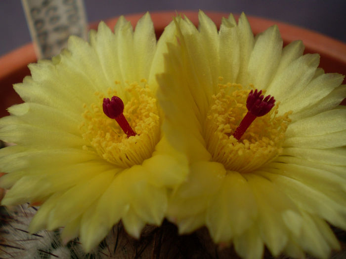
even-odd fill
[(106, 99), (106, 96), (119, 95), (115, 89), (109, 89), (107, 94), (97, 92), (95, 95), (98, 101), (89, 107), (84, 106), (86, 111), (80, 128), (83, 138), (90, 143), (84, 149), (98, 153), (119, 167), (127, 168), (141, 164), (152, 155), (160, 140), (161, 121), (157, 101), (145, 80), (124, 88), (126, 98), (123, 100), (126, 102), (125, 105), (121, 102), (123, 108), (120, 107), (123, 112), (115, 114), (115, 110), (108, 109), (108, 101), (109, 105), (122, 106), (119, 100), (115, 100), (117, 98), (112, 98), (115, 100), (113, 103)]

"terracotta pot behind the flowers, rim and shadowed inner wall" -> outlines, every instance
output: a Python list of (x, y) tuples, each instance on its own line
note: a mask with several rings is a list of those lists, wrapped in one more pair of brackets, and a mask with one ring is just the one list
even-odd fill
[[(196, 11), (181, 11), (189, 19), (198, 25), (198, 13)], [(228, 17), (229, 13), (206, 12), (206, 14), (216, 23), (221, 23), (221, 17)], [(143, 14), (128, 15), (126, 18), (135, 26), (138, 19)], [(152, 13), (155, 32), (159, 37), (165, 26), (169, 24), (175, 11)], [(239, 15), (235, 15), (236, 19)], [(268, 27), (276, 24), (279, 27), (284, 44), (293, 40), (302, 39), (305, 45), (305, 53), (319, 53), (321, 56), (320, 67), (325, 72), (336, 72), (346, 74), (346, 44), (324, 35), (311, 32), (296, 26), (288, 25), (278, 21), (266, 20), (263, 18), (248, 16), (254, 34), (264, 31)], [(118, 18), (112, 18), (105, 22), (110, 28), (114, 28)], [(96, 29), (98, 23), (90, 24), (90, 28)], [(13, 104), (21, 103), (22, 100), (14, 92), (12, 84), (21, 82), (24, 76), (29, 75), (27, 65), (36, 62), (36, 55), (32, 43), (24, 45), (0, 58), (0, 117), (8, 115), (6, 108)]]

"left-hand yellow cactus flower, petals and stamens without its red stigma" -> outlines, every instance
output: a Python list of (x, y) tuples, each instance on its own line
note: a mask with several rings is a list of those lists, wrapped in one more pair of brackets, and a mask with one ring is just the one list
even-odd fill
[[(167, 188), (187, 172), (162, 136), (155, 98), (174, 31), (172, 23), (156, 42), (148, 13), (134, 32), (124, 17), (114, 34), (100, 23), (89, 43), (71, 37), (14, 86), (25, 103), (0, 120), (0, 139), (17, 144), (0, 150), (8, 173), (0, 186), (10, 188), (1, 204), (42, 204), (31, 232), (63, 226), (64, 242), (80, 235), (90, 251), (119, 220), (137, 238), (146, 223), (161, 224)], [(103, 98), (112, 96), (123, 100), (135, 136), (104, 114)]]

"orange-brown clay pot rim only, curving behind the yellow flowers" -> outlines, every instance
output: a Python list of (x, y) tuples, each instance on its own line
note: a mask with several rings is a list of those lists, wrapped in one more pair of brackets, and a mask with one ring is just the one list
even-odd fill
[[(226, 12), (205, 12), (217, 26), (221, 23), (221, 17), (228, 17)], [(162, 32), (164, 28), (172, 21), (176, 14), (186, 15), (196, 26), (198, 25), (198, 11), (163, 11), (150, 13), (156, 32)], [(132, 26), (135, 26), (143, 13), (125, 15)], [(234, 15), (236, 19), (239, 14)], [(105, 23), (113, 29), (119, 17), (105, 20)], [(283, 38), (284, 44), (294, 40), (302, 40), (305, 47), (311, 53), (318, 53), (321, 56), (328, 57), (346, 66), (346, 44), (337, 39), (300, 28), (295, 25), (286, 24), (276, 20), (269, 20), (256, 16), (247, 16), (252, 31), (256, 35), (270, 26), (276, 24)], [(89, 29), (96, 29), (99, 22), (93, 22)], [(19, 61), (19, 62), (18, 62)], [(0, 81), (9, 74), (12, 74), (19, 68), (27, 66), (29, 63), (37, 61), (33, 43), (27, 43), (0, 57)]]

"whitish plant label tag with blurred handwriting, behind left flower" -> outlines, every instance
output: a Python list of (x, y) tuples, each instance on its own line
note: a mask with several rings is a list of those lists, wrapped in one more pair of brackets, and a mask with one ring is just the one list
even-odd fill
[(22, 4), (38, 59), (59, 54), (70, 35), (87, 38), (83, 0), (22, 0)]

